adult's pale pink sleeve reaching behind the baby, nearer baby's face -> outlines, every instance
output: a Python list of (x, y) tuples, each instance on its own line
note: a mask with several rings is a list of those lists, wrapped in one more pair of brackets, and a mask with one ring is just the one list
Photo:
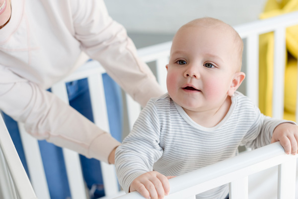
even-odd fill
[(120, 87), (143, 107), (150, 98), (164, 94), (149, 67), (138, 57), (125, 28), (108, 15), (104, 1), (76, 2), (72, 6), (74, 37), (86, 54), (99, 61)]

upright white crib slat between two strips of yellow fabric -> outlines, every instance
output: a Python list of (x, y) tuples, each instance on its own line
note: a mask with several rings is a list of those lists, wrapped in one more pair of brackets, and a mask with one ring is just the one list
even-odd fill
[(284, 77), (286, 62), (286, 29), (274, 31), (274, 73), (273, 73), (273, 117), (282, 119), (284, 116)]

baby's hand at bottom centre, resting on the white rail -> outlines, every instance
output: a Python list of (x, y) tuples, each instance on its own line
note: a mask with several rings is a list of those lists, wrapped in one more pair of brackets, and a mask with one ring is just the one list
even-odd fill
[(156, 171), (150, 171), (136, 178), (129, 192), (137, 191), (146, 199), (163, 199), (164, 195), (170, 192), (168, 179), (171, 178), (174, 176), (165, 177)]

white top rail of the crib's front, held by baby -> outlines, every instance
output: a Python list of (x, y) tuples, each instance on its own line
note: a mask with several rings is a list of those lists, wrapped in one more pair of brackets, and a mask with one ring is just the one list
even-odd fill
[[(188, 198), (284, 162), (296, 161), (297, 157), (286, 155), (280, 143), (276, 142), (170, 179), (171, 191), (165, 199)], [(143, 198), (133, 192), (117, 199)]]

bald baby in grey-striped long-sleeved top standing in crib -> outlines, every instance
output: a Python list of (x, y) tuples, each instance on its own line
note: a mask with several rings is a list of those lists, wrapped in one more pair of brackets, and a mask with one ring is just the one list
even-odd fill
[[(169, 193), (168, 179), (280, 141), (297, 153), (298, 126), (264, 116), (237, 92), (243, 43), (223, 21), (199, 18), (175, 34), (167, 69), (167, 90), (151, 99), (116, 151), (119, 182), (149, 199)], [(197, 199), (225, 199), (228, 185)]]

